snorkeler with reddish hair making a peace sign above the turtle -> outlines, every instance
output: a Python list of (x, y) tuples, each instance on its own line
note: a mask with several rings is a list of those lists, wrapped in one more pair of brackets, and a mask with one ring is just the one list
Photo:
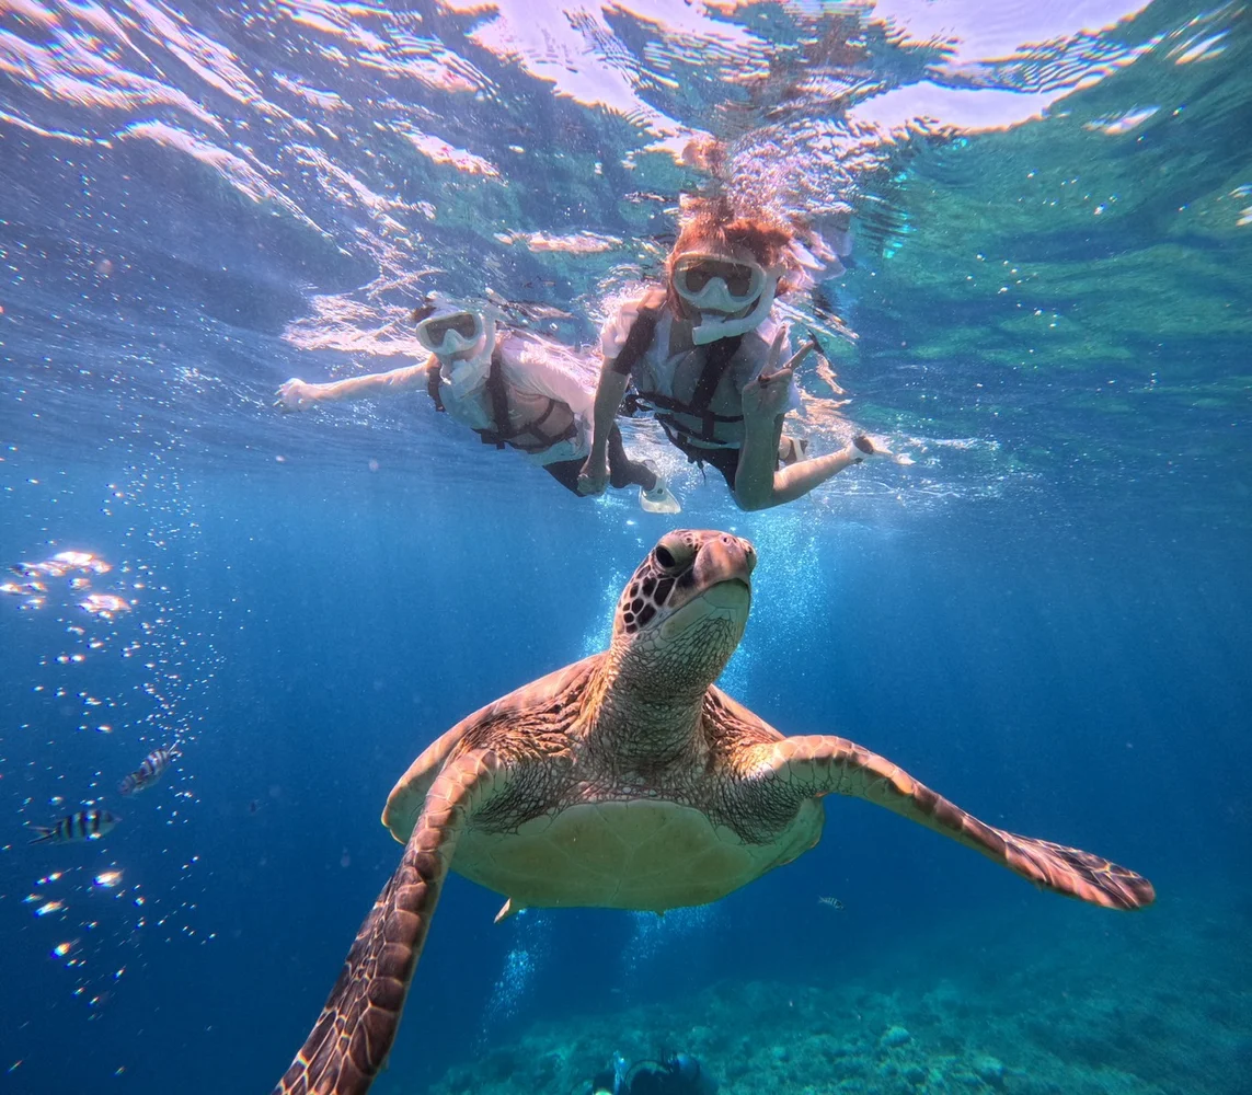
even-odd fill
[(631, 379), (670, 441), (689, 461), (721, 472), (741, 509), (791, 502), (865, 457), (885, 456), (856, 437), (839, 452), (803, 459), (801, 443), (782, 434), (796, 399), (793, 373), (815, 348), (805, 343), (780, 365), (788, 328), (770, 313), (795, 264), (793, 230), (764, 215), (737, 216), (725, 198), (692, 201), (689, 214), (666, 263), (666, 288), (625, 304), (601, 334), (582, 491), (598, 493), (610, 479), (603, 439)]

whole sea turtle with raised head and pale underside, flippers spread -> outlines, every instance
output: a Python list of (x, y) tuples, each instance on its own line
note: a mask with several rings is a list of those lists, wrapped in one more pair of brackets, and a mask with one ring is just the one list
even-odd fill
[(952, 837), (1035, 885), (1139, 909), (1151, 882), (1014, 836), (841, 737), (784, 737), (714, 681), (747, 622), (752, 546), (677, 531), (622, 592), (612, 642), (457, 723), (401, 777), (404, 845), (274, 1095), (366, 1091), (387, 1059), (449, 870), (526, 906), (664, 911), (737, 890), (813, 847), (824, 795)]

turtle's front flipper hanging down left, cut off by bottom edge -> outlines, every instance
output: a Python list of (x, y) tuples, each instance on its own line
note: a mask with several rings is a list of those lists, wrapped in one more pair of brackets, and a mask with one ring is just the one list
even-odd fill
[(471, 806), (496, 756), (464, 753), (436, 777), (396, 873), (374, 901), (304, 1046), (272, 1095), (362, 1095), (391, 1052), (413, 970)]

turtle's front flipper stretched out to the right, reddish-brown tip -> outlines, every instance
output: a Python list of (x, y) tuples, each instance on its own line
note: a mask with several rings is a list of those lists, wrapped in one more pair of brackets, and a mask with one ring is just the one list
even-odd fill
[(899, 765), (841, 737), (788, 737), (749, 750), (745, 775), (757, 793), (794, 798), (849, 795), (959, 841), (1044, 890), (1106, 909), (1142, 909), (1152, 884), (1090, 852), (993, 828), (919, 783)]

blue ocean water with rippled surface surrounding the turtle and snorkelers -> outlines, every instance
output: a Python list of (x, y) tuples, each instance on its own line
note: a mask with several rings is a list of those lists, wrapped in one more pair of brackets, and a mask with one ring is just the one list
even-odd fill
[[(493, 925), (453, 876), (374, 1090), (565, 1095), (615, 1050), (727, 1092), (1252, 1090), (1249, 61), (1238, 3), (0, 0), (0, 562), (111, 567), (0, 597), (0, 1091), (269, 1090), (394, 781), (601, 649), (671, 527), (424, 394), (278, 384), (409, 363), (429, 288), (591, 345), (717, 185), (850, 238), (793, 300), (848, 400), (810, 360), (804, 432), (910, 461), (741, 513), (623, 425), (677, 523), (757, 547), (721, 685), (1157, 904), (854, 800), (665, 917)], [(105, 840), (28, 843), (89, 807)]]

